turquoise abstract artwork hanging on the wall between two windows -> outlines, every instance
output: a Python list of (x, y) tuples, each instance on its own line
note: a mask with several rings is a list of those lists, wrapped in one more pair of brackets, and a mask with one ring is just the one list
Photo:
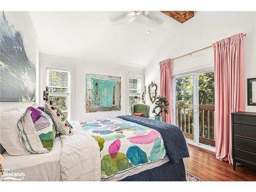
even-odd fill
[(86, 112), (120, 110), (121, 77), (86, 74)]

